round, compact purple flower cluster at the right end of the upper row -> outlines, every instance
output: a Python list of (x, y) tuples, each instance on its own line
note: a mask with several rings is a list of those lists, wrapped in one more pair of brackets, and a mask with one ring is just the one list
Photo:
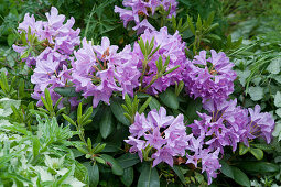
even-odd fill
[(186, 91), (203, 102), (208, 99), (224, 100), (234, 91), (236, 73), (234, 64), (225, 53), (210, 50), (212, 56), (206, 59), (206, 51), (199, 52), (194, 59), (186, 61), (184, 82)]

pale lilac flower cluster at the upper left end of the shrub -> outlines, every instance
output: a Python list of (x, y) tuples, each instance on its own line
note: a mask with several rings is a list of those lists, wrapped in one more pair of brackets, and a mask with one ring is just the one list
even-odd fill
[[(29, 13), (26, 13), (23, 22), (19, 24), (19, 33), (22, 31), (28, 33), (30, 30), (31, 34), (35, 34), (39, 41), (43, 42), (44, 46), (51, 47), (62, 55), (73, 54), (74, 47), (80, 44), (80, 30), (77, 29), (75, 31), (72, 29), (75, 23), (74, 18), (71, 18), (64, 24), (65, 15), (58, 14), (57, 9), (54, 7), (51, 8), (50, 13), (46, 13), (46, 18), (47, 21), (35, 21), (34, 15), (30, 16)], [(21, 55), (28, 50), (28, 47), (25, 47), (25, 51), (23, 51), (23, 48), (19, 48), (19, 46), (17, 47), (15, 45), (13, 45), (13, 48)], [(37, 59), (30, 55), (23, 61), (26, 62), (28, 66), (32, 66), (36, 64)]]

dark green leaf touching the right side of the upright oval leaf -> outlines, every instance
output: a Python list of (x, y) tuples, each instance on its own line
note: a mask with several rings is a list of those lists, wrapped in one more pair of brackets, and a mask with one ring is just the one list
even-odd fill
[(130, 125), (130, 121), (123, 116), (126, 112), (121, 105), (123, 103), (121, 98), (114, 97), (110, 99), (110, 108), (118, 121), (120, 121), (122, 124)]

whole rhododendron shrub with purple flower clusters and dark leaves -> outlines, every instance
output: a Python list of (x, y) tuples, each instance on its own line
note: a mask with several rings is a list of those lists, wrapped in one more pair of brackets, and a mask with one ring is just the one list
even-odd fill
[[(165, 25), (156, 30), (150, 24), (149, 20), (159, 12), (165, 19), (174, 18), (176, 1), (125, 0), (123, 6), (128, 9), (115, 7), (115, 12), (119, 13), (123, 26), (134, 22), (132, 29), (140, 35), (122, 48), (111, 44), (107, 36), (101, 41), (86, 37), (80, 41), (79, 29), (73, 29), (74, 18), (65, 21), (56, 8), (45, 14), (47, 21), (36, 21), (34, 15), (25, 14), (18, 29), (22, 44), (13, 45), (32, 72), (32, 98), (37, 100), (37, 106), (46, 106), (42, 98), (47, 90), (51, 106), (63, 99), (56, 107), (63, 108), (68, 101), (67, 114), (77, 110), (77, 118), (65, 113), (63, 118), (77, 129), (88, 150), (75, 143), (73, 146), (94, 166), (102, 164), (104, 170), (109, 166), (115, 175), (122, 176), (120, 170), (132, 169), (133, 165), (118, 172), (112, 156), (125, 152), (130, 157), (130, 153), (136, 153), (134, 164), (140, 158), (143, 170), (147, 163), (150, 169), (172, 168), (176, 175), (177, 167), (199, 170), (206, 174), (210, 185), (223, 170), (221, 163), (229, 150), (235, 154), (239, 146), (250, 148), (253, 141), (271, 142), (275, 125), (272, 116), (262, 112), (259, 105), (247, 109), (233, 98), (237, 74), (226, 53), (203, 50), (187, 57), (190, 51), (182, 33), (171, 33)], [(64, 95), (57, 88), (75, 91)], [(193, 105), (195, 99), (203, 109), (197, 110)], [(190, 108), (194, 109), (195, 120), (188, 116)], [(87, 142), (86, 124), (93, 128)], [(122, 140), (115, 153), (100, 155), (104, 148), (111, 152), (102, 143), (118, 135)], [(94, 139), (99, 148), (93, 148)], [(119, 160), (123, 161), (123, 155)]]

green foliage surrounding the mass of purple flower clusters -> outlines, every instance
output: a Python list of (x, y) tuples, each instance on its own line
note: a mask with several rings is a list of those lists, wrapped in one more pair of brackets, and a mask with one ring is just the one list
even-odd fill
[[(9, 177), (15, 178), (17, 185), (29, 184), (34, 175), (33, 167), (51, 168), (44, 163), (48, 154), (46, 152), (58, 146), (61, 151), (53, 153), (52, 156), (60, 157), (66, 154), (66, 157), (55, 169), (65, 167), (72, 172), (64, 178), (56, 176), (54, 186), (60, 186), (67, 180), (67, 177), (78, 178), (90, 186), (98, 184), (100, 186), (120, 186), (121, 184), (136, 186), (139, 183), (138, 179), (148, 180), (147, 176), (142, 175), (148, 172), (152, 173), (151, 180), (156, 180), (160, 176), (160, 183), (166, 186), (205, 186), (206, 179), (198, 170), (187, 167), (171, 169), (163, 165), (158, 173), (155, 168), (150, 170), (145, 163), (140, 164), (136, 155), (127, 153), (128, 147), (123, 146), (122, 141), (128, 136), (130, 123), (122, 114), (123, 101), (118, 97), (111, 98), (110, 107), (99, 105), (91, 110), (91, 106), (88, 105), (72, 112), (69, 109), (63, 111), (51, 108), (48, 105), (51, 101), (47, 99), (47, 105), (43, 107), (46, 110), (37, 109), (33, 105), (35, 101), (30, 97), (33, 88), (30, 82), (32, 72), (21, 63), (11, 45), (18, 40), (17, 28), (26, 12), (34, 14), (36, 19), (44, 19), (44, 12), (47, 12), (52, 6), (67, 18), (74, 16), (75, 26), (82, 29), (80, 36), (93, 40), (95, 44), (99, 43), (101, 36), (108, 36), (111, 44), (120, 47), (137, 40), (133, 31), (130, 28), (123, 29), (119, 15), (114, 12), (114, 6), (121, 7), (121, 0), (0, 0), (0, 68), (2, 72), (0, 95), (1, 98), (10, 99), (8, 102), (0, 103), (1, 109), (10, 111), (4, 113), (1, 110), (0, 128), (13, 124), (13, 128), (0, 130), (0, 135), (10, 136), (9, 141), (0, 142), (0, 153), (14, 147), (13, 152), (6, 151), (0, 154), (0, 172), (2, 170), (0, 179), (6, 185), (11, 184)], [(179, 30), (186, 42), (190, 48), (186, 52), (187, 56), (194, 56), (199, 50), (224, 51), (235, 63), (238, 74), (235, 81), (236, 89), (231, 97), (237, 98), (239, 105), (245, 108), (259, 103), (262, 110), (271, 112), (277, 121), (271, 145), (268, 146), (262, 141), (253, 142), (250, 147), (240, 145), (236, 153), (226, 154), (221, 160), (221, 174), (214, 180), (213, 186), (281, 185), (280, 20), (281, 2), (279, 0), (179, 0), (176, 19), (166, 21), (170, 33)], [(199, 24), (201, 22), (203, 24)], [(62, 96), (67, 97), (71, 94), (68, 91)], [(170, 88), (160, 96), (153, 97), (149, 108), (165, 106), (171, 114), (176, 116), (181, 112), (188, 121), (193, 121), (197, 118), (196, 110), (202, 108), (198, 105), (201, 101), (192, 99), (183, 101), (183, 96), (182, 92), (180, 97), (176, 97), (174, 88)], [(143, 103), (148, 96), (139, 95), (138, 98), (140, 103)], [(197, 107), (194, 108), (194, 105)], [(101, 113), (105, 114), (101, 116)], [(84, 121), (90, 120), (88, 124), (79, 123), (77, 120), (79, 116), (85, 118)], [(65, 127), (71, 124), (71, 129), (61, 129), (56, 121), (60, 124), (64, 123)], [(44, 123), (54, 124), (53, 129), (45, 129), (44, 132), (50, 134), (57, 132), (47, 146), (44, 146), (45, 142), (50, 141), (47, 138), (40, 139), (39, 144), (34, 143), (39, 139), (37, 134), (43, 131)], [(79, 130), (85, 132), (82, 139), (75, 135)], [(68, 134), (68, 136), (61, 136), (62, 134)], [(84, 150), (83, 141), (87, 144), (86, 150)], [(18, 147), (19, 142), (26, 146), (31, 146), (33, 142), (33, 150), (23, 151), (24, 147)], [(91, 158), (89, 153), (98, 156)], [(23, 173), (20, 168), (22, 163), (17, 167), (12, 165), (7, 168), (7, 162), (10, 162), (4, 161), (7, 155), (19, 158), (24, 155), (28, 163), (31, 163), (30, 170)], [(29, 160), (30, 155), (37, 160)], [(75, 166), (71, 165), (73, 162)], [(79, 172), (85, 169), (88, 169), (88, 176), (79, 176)]]

